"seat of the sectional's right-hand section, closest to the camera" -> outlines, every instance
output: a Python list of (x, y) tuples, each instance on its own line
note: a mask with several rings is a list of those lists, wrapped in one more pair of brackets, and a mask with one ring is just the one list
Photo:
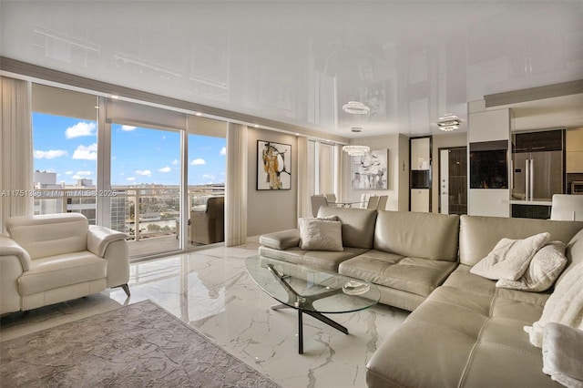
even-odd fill
[(455, 283), (464, 290), (439, 287), (373, 353), (369, 387), (557, 386), (522, 333), (548, 295), (496, 289), (460, 267)]

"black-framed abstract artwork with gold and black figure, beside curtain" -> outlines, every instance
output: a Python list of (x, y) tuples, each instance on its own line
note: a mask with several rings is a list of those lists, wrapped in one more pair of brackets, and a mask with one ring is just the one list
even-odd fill
[(257, 140), (257, 189), (292, 189), (292, 146)]

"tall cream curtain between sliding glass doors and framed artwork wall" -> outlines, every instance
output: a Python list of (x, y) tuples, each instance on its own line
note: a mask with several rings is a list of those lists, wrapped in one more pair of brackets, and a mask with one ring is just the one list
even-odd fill
[(225, 183), (225, 245), (247, 242), (247, 126), (227, 128), (227, 179)]

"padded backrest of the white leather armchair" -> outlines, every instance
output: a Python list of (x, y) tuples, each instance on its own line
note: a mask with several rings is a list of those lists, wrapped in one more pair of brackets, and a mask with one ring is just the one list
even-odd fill
[(32, 260), (87, 250), (87, 218), (79, 213), (11, 217), (6, 230)]

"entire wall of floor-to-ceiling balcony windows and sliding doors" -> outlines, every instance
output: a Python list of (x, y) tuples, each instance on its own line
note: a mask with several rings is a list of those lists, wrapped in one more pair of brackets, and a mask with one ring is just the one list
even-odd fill
[(125, 232), (133, 258), (201, 245), (182, 220), (223, 198), (225, 134), (222, 121), (35, 84), (35, 212)]

